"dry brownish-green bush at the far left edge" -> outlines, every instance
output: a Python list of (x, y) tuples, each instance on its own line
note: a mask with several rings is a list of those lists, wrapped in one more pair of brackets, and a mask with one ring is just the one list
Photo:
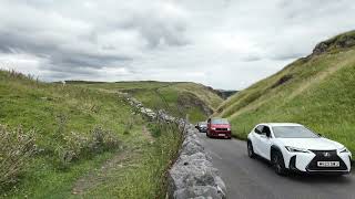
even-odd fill
[(0, 125), (0, 186), (14, 184), (36, 151), (33, 132)]

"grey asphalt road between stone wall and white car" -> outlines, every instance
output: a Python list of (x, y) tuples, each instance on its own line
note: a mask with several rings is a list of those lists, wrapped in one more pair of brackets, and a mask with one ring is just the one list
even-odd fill
[(251, 159), (246, 143), (211, 139), (197, 134), (227, 187), (229, 199), (355, 199), (354, 172), (343, 177), (277, 176), (260, 158)]

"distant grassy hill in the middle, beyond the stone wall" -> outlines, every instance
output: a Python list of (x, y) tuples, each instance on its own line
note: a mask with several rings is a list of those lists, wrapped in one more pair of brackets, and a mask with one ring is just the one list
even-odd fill
[(125, 92), (136, 97), (146, 107), (165, 108), (170, 114), (179, 117), (185, 117), (185, 114), (189, 114), (192, 123), (204, 121), (223, 102), (212, 88), (187, 82), (71, 82), (71, 84), (106, 92)]

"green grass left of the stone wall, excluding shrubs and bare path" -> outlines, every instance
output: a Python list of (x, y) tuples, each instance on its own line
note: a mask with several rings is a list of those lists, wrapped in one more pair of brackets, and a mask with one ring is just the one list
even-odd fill
[[(143, 88), (151, 86), (139, 86), (145, 85)], [(161, 104), (159, 101), (152, 103)], [(0, 124), (34, 129), (36, 144), (41, 149), (31, 158), (32, 161), (27, 163), (17, 184), (0, 187), (0, 198), (80, 198), (72, 193), (77, 180), (100, 170), (102, 165), (120, 154), (130, 156), (118, 163), (122, 167), (108, 174), (109, 180), (85, 190), (85, 197), (165, 197), (164, 174), (179, 149), (180, 134), (176, 128), (162, 126), (164, 130), (161, 134), (150, 137), (142, 130), (148, 125), (144, 118), (131, 111), (123, 98), (106, 88), (77, 84), (63, 87), (0, 70)], [(130, 121), (134, 125), (126, 130)], [(57, 148), (67, 146), (62, 135), (75, 132), (85, 137), (97, 126), (112, 132), (120, 140), (119, 146), (85, 154), (65, 167), (59, 166)]]

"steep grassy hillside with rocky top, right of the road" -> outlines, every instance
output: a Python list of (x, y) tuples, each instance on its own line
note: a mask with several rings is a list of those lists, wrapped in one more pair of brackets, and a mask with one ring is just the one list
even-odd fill
[(355, 153), (355, 32), (320, 43), (313, 54), (239, 92), (215, 113), (245, 138), (257, 123), (294, 122)]

